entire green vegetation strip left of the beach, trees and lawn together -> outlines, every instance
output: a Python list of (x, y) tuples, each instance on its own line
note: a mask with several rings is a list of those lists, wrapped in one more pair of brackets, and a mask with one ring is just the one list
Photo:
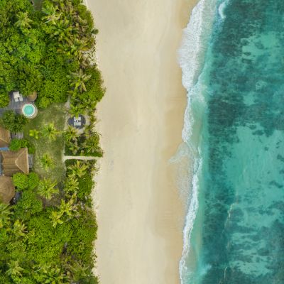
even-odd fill
[[(92, 274), (94, 162), (72, 160), (67, 170), (62, 164), (64, 143), (76, 146), (80, 139), (63, 132), (68, 96), (70, 114), (85, 114), (91, 122), (80, 154), (102, 156), (92, 129), (92, 111), (104, 95), (100, 72), (91, 64), (97, 30), (81, 2), (37, 1), (41, 9), (35, 10), (29, 0), (0, 0), (0, 107), (18, 89), (23, 96), (37, 92), (40, 108), (28, 124), (13, 111), (0, 121), (13, 132), (23, 129), (25, 139), (14, 139), (11, 150), (28, 147), (35, 153), (35, 172), (13, 175), (18, 202), (0, 204), (0, 283), (98, 283)], [(42, 165), (45, 153), (53, 168)]]

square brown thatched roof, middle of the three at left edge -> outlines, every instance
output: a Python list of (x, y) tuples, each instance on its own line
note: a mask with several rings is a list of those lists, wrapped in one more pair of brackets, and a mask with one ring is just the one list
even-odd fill
[(14, 173), (29, 173), (28, 148), (18, 151), (1, 152), (2, 173), (12, 176)]

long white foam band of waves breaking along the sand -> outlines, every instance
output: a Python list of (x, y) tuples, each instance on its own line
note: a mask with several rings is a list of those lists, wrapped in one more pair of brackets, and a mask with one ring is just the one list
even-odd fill
[[(187, 182), (192, 190), (188, 190), (190, 198), (188, 202), (188, 211), (185, 219), (185, 227), (183, 229), (183, 251), (180, 260), (180, 280), (184, 282), (184, 276), (190, 271), (186, 266), (187, 256), (190, 252), (190, 234), (192, 226), (195, 222), (195, 217), (198, 209), (198, 187), (199, 175), (202, 169), (202, 158), (198, 145), (195, 144), (195, 134), (192, 133), (192, 128), (200, 129), (197, 125), (200, 123), (195, 119), (196, 113), (192, 112), (192, 101), (201, 102), (200, 106), (204, 105), (204, 86), (199, 80), (204, 66), (204, 57), (209, 44), (209, 36), (212, 33), (212, 23), (217, 8), (217, 0), (200, 0), (200, 2), (192, 10), (190, 23), (183, 31), (182, 45), (179, 50), (180, 67), (182, 68), (182, 84), (187, 89), (187, 109), (185, 110), (185, 124), (182, 130), (182, 139), (187, 143), (190, 149), (196, 148), (196, 151), (190, 151), (190, 159), (194, 161), (193, 173), (187, 175)], [(198, 115), (197, 115), (198, 116)], [(197, 153), (198, 152), (198, 153)], [(194, 154), (195, 153), (195, 154)], [(193, 155), (194, 154), (194, 155)]]

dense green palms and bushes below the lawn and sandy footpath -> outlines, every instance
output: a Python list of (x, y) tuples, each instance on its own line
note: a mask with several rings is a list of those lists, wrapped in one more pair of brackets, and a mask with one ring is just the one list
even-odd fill
[[(53, 278), (54, 283), (97, 283), (92, 275), (97, 223), (89, 207), (94, 163), (69, 160), (60, 196), (52, 180), (13, 175), (21, 198), (13, 207), (0, 204), (2, 283), (53, 283), (48, 282)], [(12, 263), (19, 273), (9, 272)]]

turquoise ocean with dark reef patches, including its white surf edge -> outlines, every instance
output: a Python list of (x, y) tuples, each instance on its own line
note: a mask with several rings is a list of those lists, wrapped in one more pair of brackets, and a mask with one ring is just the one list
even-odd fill
[(180, 65), (181, 282), (284, 283), (284, 1), (200, 0)]

